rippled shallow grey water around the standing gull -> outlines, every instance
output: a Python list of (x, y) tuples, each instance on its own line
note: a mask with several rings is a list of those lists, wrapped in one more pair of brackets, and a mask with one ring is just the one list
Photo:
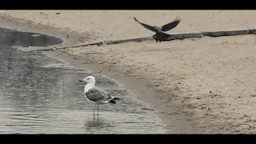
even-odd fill
[[(11, 46), (50, 46), (61, 39), (0, 28), (1, 134), (159, 134), (165, 127), (153, 111), (143, 110), (127, 90), (110, 78), (66, 66), (40, 52)], [(83, 94), (80, 78), (94, 75), (96, 85), (122, 101), (94, 105)]]

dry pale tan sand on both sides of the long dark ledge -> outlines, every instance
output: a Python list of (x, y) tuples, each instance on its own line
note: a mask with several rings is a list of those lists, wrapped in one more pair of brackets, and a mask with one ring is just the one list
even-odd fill
[[(180, 16), (183, 21), (173, 32), (255, 28), (256, 23), (256, 10), (1, 10), (0, 16), (89, 42), (152, 34), (134, 16), (157, 26)], [(155, 105), (167, 124), (175, 105), (202, 133), (255, 133), (255, 42), (255, 35), (205, 37), (80, 47), (67, 53), (148, 84), (160, 95), (142, 99)]]

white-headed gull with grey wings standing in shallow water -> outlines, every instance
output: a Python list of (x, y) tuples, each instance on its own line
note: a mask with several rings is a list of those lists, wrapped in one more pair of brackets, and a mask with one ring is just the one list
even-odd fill
[(95, 78), (93, 76), (88, 76), (83, 80), (79, 80), (79, 82), (86, 82), (86, 86), (84, 88), (84, 94), (86, 96), (86, 100), (94, 103), (94, 111), (96, 105), (103, 105), (106, 103), (116, 103), (114, 100), (119, 100), (121, 98), (114, 97), (110, 94), (107, 94), (105, 90), (102, 90), (95, 85)]

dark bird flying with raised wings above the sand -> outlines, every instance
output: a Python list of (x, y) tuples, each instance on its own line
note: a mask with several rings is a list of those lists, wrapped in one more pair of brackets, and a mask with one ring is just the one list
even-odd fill
[[(139, 22), (137, 18), (134, 17), (134, 20), (144, 26), (146, 29), (154, 31), (156, 34), (153, 35), (153, 38), (156, 40), (156, 42), (165, 41), (168, 38), (171, 37), (170, 34), (166, 34), (164, 32), (174, 29), (174, 27), (178, 26), (178, 23), (182, 21), (180, 17), (175, 18), (173, 22), (167, 23), (164, 26), (158, 27), (158, 26), (150, 26), (146, 23)], [(153, 39), (152, 39), (153, 40)]]

